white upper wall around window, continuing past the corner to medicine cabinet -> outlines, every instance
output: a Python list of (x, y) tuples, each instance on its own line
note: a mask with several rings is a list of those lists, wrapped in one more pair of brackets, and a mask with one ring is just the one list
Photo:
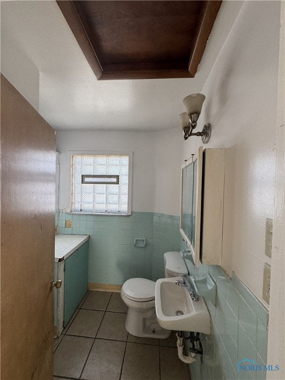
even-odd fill
[[(178, 121), (179, 122), (179, 121)], [(61, 153), (61, 209), (69, 210), (70, 150), (133, 151), (133, 211), (179, 215), (183, 133), (57, 132)]]

